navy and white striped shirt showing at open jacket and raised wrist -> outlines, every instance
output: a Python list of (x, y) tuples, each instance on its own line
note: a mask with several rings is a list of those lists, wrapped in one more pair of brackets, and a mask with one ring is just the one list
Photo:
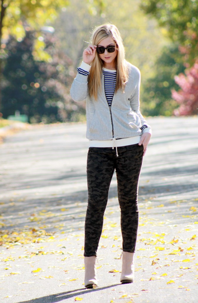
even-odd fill
[[(77, 68), (77, 71), (79, 74), (88, 76), (89, 72), (85, 71), (82, 68)], [(113, 95), (115, 92), (115, 85), (116, 85), (116, 71), (115, 70), (110, 70), (107, 68), (103, 68), (102, 70), (103, 75), (104, 75), (104, 87), (105, 87), (105, 96), (106, 100), (108, 102), (108, 105), (111, 106), (112, 104), (112, 99)]]

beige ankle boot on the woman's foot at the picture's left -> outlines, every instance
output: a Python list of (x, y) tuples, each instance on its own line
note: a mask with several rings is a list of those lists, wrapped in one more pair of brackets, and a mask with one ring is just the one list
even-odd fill
[(93, 288), (93, 285), (97, 285), (96, 278), (96, 256), (85, 257), (85, 287)]

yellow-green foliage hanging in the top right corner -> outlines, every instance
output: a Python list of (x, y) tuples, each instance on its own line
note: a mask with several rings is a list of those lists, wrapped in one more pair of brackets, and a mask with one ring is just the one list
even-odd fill
[(184, 60), (195, 62), (198, 38), (198, 2), (196, 0), (143, 0), (141, 8), (155, 17), (172, 42), (183, 46)]

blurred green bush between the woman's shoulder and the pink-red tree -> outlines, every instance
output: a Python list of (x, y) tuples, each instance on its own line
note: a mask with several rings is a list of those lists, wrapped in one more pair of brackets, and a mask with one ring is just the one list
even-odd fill
[(144, 115), (173, 115), (178, 104), (171, 98), (171, 89), (177, 89), (174, 76), (184, 71), (183, 64), (175, 61), (178, 55), (176, 46), (165, 47), (155, 64), (154, 77), (144, 84), (141, 108)]

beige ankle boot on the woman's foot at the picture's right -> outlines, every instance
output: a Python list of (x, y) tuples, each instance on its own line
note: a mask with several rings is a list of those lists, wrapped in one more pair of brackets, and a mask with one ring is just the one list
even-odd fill
[(122, 284), (132, 283), (134, 279), (134, 253), (122, 252), (122, 274), (120, 282)]

